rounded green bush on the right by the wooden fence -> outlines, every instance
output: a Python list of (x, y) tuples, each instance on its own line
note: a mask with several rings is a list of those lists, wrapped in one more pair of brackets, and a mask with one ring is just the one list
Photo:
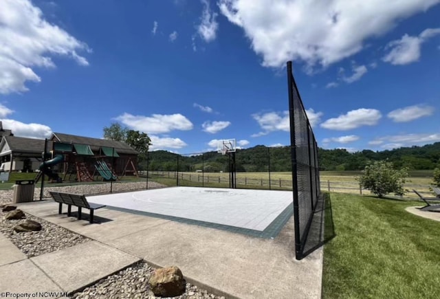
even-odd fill
[(407, 168), (396, 170), (393, 162), (376, 161), (365, 166), (359, 182), (362, 188), (369, 189), (382, 198), (391, 192), (395, 195), (404, 195), (406, 177), (408, 177)]

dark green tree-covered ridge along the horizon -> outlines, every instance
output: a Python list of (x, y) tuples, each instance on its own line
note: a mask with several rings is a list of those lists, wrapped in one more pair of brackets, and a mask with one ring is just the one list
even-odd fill
[[(345, 149), (318, 148), (320, 170), (363, 170), (370, 161), (388, 160), (396, 168), (409, 170), (434, 169), (440, 166), (440, 142), (425, 146), (396, 148), (386, 151), (364, 150), (349, 153)], [(178, 155), (168, 151), (149, 153), (150, 170), (207, 172), (228, 171), (228, 157), (212, 151), (203, 155)], [(289, 146), (254, 146), (236, 151), (237, 171), (290, 171)]]

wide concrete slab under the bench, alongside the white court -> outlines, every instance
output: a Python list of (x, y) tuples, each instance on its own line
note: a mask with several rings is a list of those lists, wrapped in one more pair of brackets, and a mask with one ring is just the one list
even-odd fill
[(293, 217), (261, 239), (107, 208), (96, 216), (110, 221), (89, 224), (59, 215), (53, 201), (17, 206), (151, 265), (177, 265), (188, 282), (227, 298), (320, 298), (322, 248), (295, 259)]

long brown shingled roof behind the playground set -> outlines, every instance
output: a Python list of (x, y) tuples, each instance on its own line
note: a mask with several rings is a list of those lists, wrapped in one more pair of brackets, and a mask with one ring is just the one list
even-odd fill
[(118, 153), (123, 153), (127, 155), (138, 155), (139, 153), (135, 151), (131, 146), (124, 142), (119, 142), (115, 140), (98, 139), (91, 137), (83, 137), (77, 135), (70, 135), (64, 133), (52, 133), (50, 140), (56, 140), (58, 142), (65, 142), (69, 144), (87, 144), (91, 147), (93, 151), (98, 151), (102, 146), (115, 148)]

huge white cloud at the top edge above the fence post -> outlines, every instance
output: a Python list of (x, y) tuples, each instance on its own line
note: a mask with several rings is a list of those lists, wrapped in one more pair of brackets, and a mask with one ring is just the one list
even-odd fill
[(243, 28), (267, 67), (303, 60), (327, 67), (360, 52), (364, 43), (439, 0), (219, 0), (221, 13)]

